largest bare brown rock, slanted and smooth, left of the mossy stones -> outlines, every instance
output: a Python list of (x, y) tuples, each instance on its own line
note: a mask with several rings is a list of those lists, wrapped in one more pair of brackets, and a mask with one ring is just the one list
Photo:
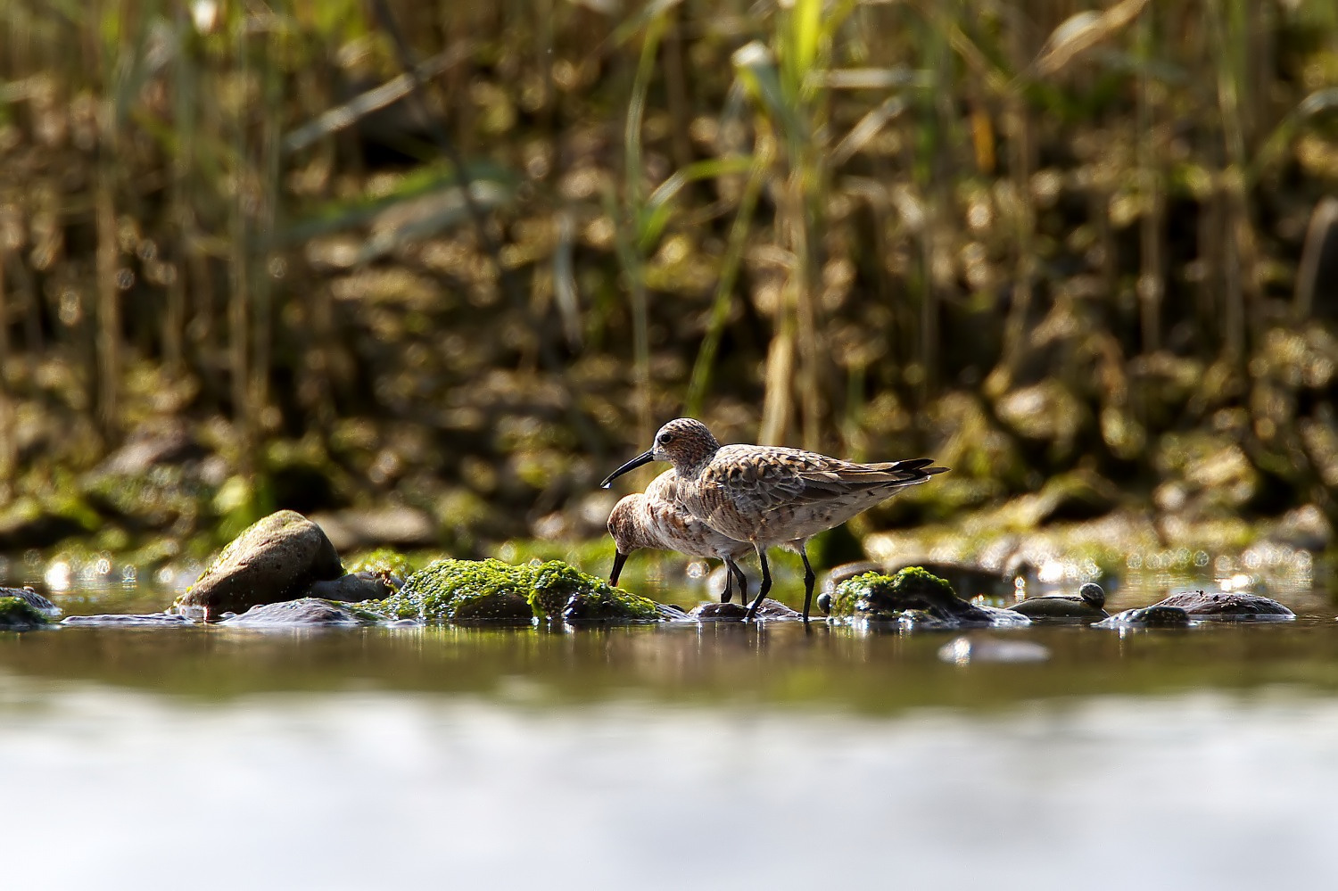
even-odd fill
[(296, 511), (258, 520), (223, 549), (174, 609), (203, 618), (290, 601), (313, 582), (344, 575), (321, 527)]

